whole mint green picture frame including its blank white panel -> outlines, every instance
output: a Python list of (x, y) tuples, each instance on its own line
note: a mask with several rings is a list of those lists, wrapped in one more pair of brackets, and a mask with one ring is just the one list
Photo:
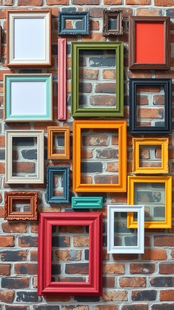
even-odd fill
[(32, 121), (52, 121), (52, 74), (4, 74), (4, 122)]

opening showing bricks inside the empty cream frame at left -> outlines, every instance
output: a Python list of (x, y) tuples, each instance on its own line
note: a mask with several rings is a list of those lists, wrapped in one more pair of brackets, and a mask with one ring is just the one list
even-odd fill
[(12, 137), (12, 176), (37, 177), (37, 174), (37, 137)]

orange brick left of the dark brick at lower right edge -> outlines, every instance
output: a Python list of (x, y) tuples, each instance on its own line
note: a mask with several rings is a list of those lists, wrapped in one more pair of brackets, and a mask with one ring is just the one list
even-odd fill
[(121, 287), (146, 287), (145, 277), (120, 277), (119, 284)]

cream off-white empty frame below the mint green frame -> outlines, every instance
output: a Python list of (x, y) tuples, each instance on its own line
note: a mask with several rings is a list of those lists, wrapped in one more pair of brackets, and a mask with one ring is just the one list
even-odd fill
[[(23, 152), (14, 152), (14, 139), (21, 138), (18, 145), (24, 146)], [(27, 141), (31, 138), (36, 139), (37, 146), (32, 144), (32, 149), (28, 148)], [(30, 144), (31, 145), (31, 144)], [(23, 155), (24, 154), (24, 155)], [(31, 156), (33, 154), (33, 157)], [(20, 163), (19, 173), (13, 173), (13, 156), (15, 162)], [(23, 155), (23, 156), (22, 156)], [(32, 158), (33, 162), (28, 159)], [(37, 165), (36, 165), (37, 163)], [(32, 165), (31, 165), (32, 164)], [(31, 169), (34, 170), (32, 170)], [(22, 169), (26, 169), (22, 171)], [(24, 174), (24, 175), (23, 175)], [(44, 183), (44, 131), (43, 130), (6, 130), (6, 183)]]

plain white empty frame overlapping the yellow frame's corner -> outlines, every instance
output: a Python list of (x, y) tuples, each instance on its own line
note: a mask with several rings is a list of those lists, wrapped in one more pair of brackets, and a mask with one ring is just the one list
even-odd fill
[[(116, 219), (118, 212), (123, 214), (123, 212), (127, 213), (130, 210), (131, 212), (137, 212), (138, 228), (137, 236), (134, 238), (134, 230), (129, 229), (129, 233), (127, 231), (127, 214), (126, 216), (121, 216), (121, 220), (120, 218)], [(120, 227), (120, 232), (116, 233), (118, 232), (118, 226)], [(126, 245), (128, 242), (130, 244), (133, 243), (133, 245)], [(115, 243), (118, 245), (115, 245)], [(122, 243), (124, 243), (123, 246)], [(144, 253), (144, 205), (107, 206), (107, 253)]]

